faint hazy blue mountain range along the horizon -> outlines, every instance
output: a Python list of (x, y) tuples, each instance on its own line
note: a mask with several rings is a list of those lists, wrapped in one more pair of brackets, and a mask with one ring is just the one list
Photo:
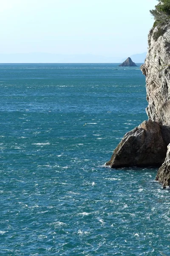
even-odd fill
[[(135, 63), (143, 63), (146, 52), (127, 56)], [(122, 63), (125, 59), (93, 54), (53, 54), (46, 52), (0, 53), (0, 63)]]

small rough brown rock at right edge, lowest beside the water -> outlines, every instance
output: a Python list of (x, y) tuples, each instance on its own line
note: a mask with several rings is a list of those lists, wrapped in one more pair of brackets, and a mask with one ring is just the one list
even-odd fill
[(167, 156), (158, 170), (156, 180), (159, 180), (163, 187), (170, 186), (170, 144), (167, 146)]

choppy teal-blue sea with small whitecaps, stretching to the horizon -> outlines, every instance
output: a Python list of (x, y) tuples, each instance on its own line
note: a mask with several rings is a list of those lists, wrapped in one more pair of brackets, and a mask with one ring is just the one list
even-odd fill
[(170, 256), (157, 169), (105, 167), (146, 106), (139, 67), (0, 64), (0, 255)]

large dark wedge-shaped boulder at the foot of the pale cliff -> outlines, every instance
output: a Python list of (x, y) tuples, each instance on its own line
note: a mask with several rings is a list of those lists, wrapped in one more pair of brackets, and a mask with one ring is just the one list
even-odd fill
[(149, 119), (125, 134), (106, 165), (111, 168), (161, 166), (166, 152), (159, 124)]

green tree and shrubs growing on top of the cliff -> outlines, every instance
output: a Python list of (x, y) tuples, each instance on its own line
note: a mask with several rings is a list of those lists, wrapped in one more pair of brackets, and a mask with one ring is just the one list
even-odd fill
[(155, 19), (154, 26), (163, 25), (167, 20), (170, 20), (170, 0), (158, 0), (159, 3), (150, 13)]

